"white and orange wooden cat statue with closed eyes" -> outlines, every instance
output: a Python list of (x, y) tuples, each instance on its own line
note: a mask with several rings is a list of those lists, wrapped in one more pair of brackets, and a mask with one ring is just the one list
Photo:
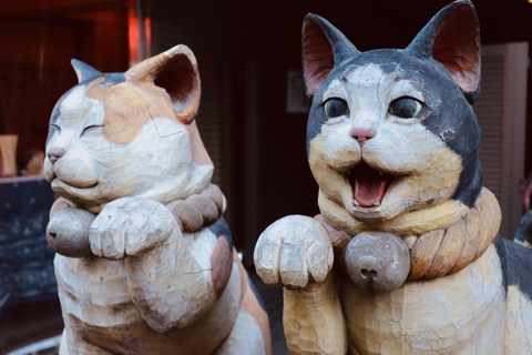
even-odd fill
[(44, 172), (61, 354), (270, 354), (194, 116), (196, 60), (177, 45), (125, 73), (80, 61)]

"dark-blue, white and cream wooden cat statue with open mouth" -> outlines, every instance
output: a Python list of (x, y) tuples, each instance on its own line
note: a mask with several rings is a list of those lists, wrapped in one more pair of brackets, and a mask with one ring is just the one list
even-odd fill
[(530, 354), (532, 251), (495, 239), (482, 187), (472, 3), (402, 50), (360, 52), (308, 14), (303, 67), (321, 214), (275, 222), (255, 248), (258, 275), (285, 287), (290, 352)]

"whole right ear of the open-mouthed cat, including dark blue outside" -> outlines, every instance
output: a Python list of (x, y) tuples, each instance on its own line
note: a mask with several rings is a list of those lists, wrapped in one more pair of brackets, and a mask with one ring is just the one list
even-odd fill
[(480, 93), (480, 28), (471, 1), (454, 1), (441, 9), (406, 51), (442, 63), (469, 103), (474, 103)]

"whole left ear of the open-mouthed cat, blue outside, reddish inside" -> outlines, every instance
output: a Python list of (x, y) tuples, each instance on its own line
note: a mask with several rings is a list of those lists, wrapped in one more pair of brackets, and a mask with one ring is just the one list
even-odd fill
[(303, 74), (308, 94), (316, 94), (335, 65), (358, 53), (329, 21), (307, 14), (303, 22)]

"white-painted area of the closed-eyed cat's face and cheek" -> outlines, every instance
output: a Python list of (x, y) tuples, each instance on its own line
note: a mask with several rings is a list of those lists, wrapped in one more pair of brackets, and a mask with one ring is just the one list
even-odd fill
[(122, 196), (168, 203), (205, 189), (213, 166), (195, 165), (190, 154), (181, 153), (191, 150), (188, 132), (167, 118), (147, 121), (127, 145), (106, 140), (103, 128), (90, 129), (78, 139), (84, 128), (103, 125), (105, 120), (103, 102), (84, 91), (84, 85), (75, 87), (61, 103), (57, 122), (61, 134), (48, 143), (65, 150), (55, 164), (44, 161), (47, 179), (59, 178), (52, 180), (52, 187), (60, 195), (98, 213), (103, 204)]

